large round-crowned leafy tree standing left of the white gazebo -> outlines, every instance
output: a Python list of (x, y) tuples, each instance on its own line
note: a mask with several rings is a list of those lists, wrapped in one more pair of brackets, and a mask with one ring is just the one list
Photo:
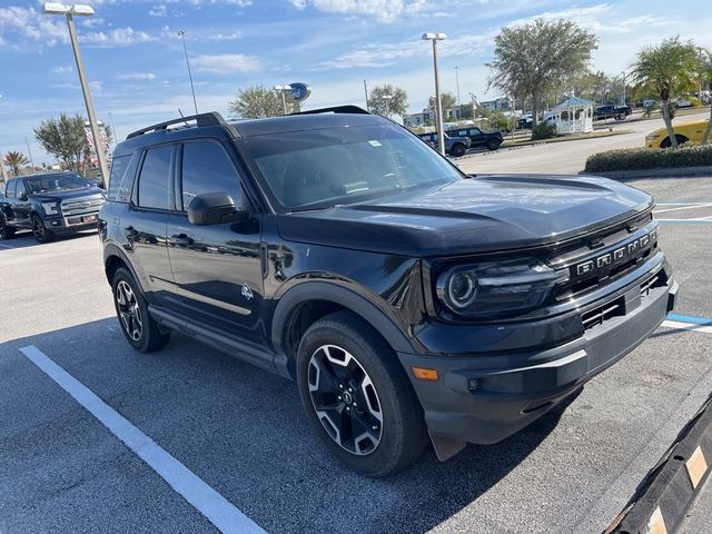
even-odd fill
[(490, 87), (516, 95), (520, 101), (531, 98), (536, 125), (542, 97), (584, 72), (597, 42), (593, 33), (571, 20), (536, 19), (525, 26), (502, 28), (495, 38), (495, 60), (487, 63)]

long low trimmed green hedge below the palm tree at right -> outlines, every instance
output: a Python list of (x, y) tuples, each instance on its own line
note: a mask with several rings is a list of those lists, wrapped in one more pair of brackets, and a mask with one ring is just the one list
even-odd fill
[(624, 148), (589, 156), (586, 172), (712, 166), (712, 145), (688, 142), (672, 148)]

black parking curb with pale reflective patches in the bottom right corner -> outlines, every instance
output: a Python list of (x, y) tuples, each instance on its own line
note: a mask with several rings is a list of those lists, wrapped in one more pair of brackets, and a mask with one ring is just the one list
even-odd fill
[(604, 534), (678, 531), (712, 471), (712, 395), (637, 486)]

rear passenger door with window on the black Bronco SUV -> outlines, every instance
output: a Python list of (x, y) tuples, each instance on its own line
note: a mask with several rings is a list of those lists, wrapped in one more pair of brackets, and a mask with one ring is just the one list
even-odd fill
[(129, 209), (121, 217), (125, 249), (149, 303), (168, 301), (172, 273), (166, 245), (166, 224), (174, 209), (175, 146), (146, 150)]

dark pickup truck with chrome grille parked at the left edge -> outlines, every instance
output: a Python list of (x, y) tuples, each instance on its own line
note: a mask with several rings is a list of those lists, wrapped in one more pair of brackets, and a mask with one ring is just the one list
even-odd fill
[(11, 178), (0, 199), (0, 239), (31, 230), (40, 243), (97, 227), (105, 194), (73, 172)]

